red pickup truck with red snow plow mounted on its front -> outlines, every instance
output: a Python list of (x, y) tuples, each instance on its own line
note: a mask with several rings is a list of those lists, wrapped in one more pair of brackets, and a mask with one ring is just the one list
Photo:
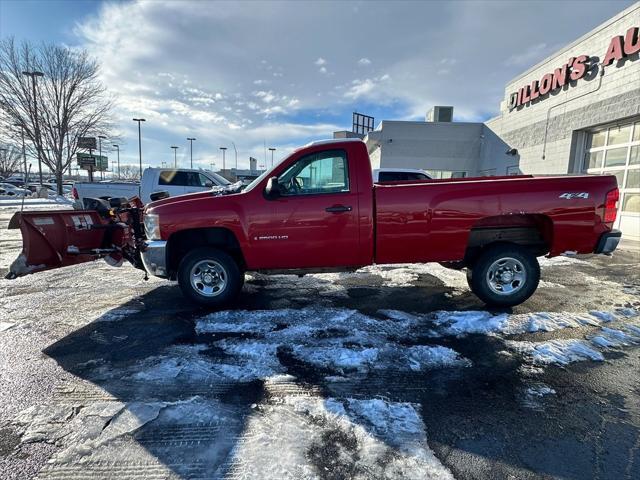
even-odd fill
[(374, 185), (359, 140), (296, 150), (240, 191), (96, 200), (85, 210), (17, 213), (23, 252), (10, 276), (106, 257), (177, 279), (209, 306), (231, 300), (244, 272), (304, 274), (441, 262), (466, 268), (492, 305), (525, 301), (536, 257), (611, 253), (614, 176), (483, 177)]

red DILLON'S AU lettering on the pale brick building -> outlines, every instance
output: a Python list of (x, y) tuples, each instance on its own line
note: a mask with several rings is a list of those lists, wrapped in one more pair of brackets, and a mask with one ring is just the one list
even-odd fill
[[(640, 52), (640, 35), (638, 27), (632, 27), (623, 35), (616, 35), (609, 42), (609, 47), (604, 55), (602, 65), (607, 67), (614, 61), (622, 60)], [(536, 99), (542, 99), (565, 85), (571, 85), (583, 78), (592, 66), (592, 62), (597, 59), (588, 55), (571, 57), (564, 65), (556, 68), (542, 76), (539, 80), (534, 80), (530, 84), (524, 85), (509, 96), (509, 110), (529, 104)]]

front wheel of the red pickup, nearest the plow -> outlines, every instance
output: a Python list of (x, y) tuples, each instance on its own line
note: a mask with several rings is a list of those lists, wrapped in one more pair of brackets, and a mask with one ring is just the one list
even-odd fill
[[(206, 270), (201, 270), (201, 266)], [(220, 307), (232, 301), (242, 288), (243, 277), (228, 253), (211, 247), (189, 252), (178, 267), (178, 284), (183, 295), (207, 307)]]

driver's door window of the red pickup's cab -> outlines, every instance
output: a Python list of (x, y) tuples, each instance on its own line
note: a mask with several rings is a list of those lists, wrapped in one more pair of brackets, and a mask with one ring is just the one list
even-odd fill
[(302, 157), (280, 175), (278, 183), (283, 195), (348, 192), (347, 154), (328, 150)]

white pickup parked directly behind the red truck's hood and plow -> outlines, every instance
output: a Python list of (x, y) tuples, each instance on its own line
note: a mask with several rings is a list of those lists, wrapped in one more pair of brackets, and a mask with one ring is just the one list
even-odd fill
[(142, 173), (142, 182), (77, 182), (73, 187), (73, 198), (132, 198), (141, 196), (143, 203), (151, 201), (151, 194), (167, 192), (170, 197), (202, 192), (212, 187), (224, 187), (231, 182), (208, 170), (147, 168)]

